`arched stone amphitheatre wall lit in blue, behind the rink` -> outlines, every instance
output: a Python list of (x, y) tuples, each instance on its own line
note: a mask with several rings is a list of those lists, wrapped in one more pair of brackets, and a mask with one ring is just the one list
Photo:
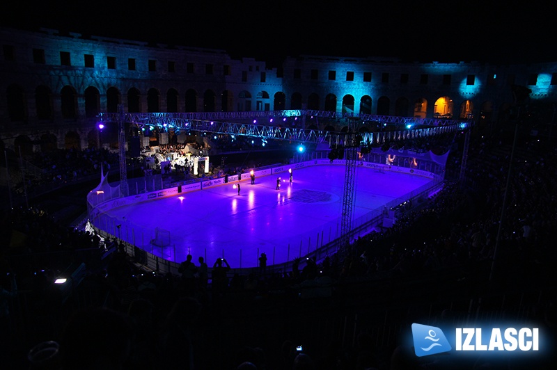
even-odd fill
[[(517, 88), (528, 99), (556, 100), (557, 63), (300, 56), (267, 69), (220, 49), (85, 39), (49, 29), (0, 29), (0, 39), (0, 145), (24, 152), (94, 146), (97, 113), (116, 112), (118, 104), (129, 112), (307, 108), (495, 121), (517, 102)], [(340, 131), (346, 123), (306, 121), (325, 124)]]

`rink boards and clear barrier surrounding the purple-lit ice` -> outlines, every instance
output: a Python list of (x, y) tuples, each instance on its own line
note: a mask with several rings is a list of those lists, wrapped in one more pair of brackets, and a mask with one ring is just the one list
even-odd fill
[[(307, 154), (305, 156), (297, 156), (295, 157), (294, 161), (325, 159), (326, 156), (326, 152), (312, 152), (311, 154)], [(377, 163), (376, 165), (366, 160), (380, 161), (379, 163), (384, 163), (384, 161), (386, 160), (386, 154), (366, 154), (366, 156), (364, 156), (361, 161), (359, 161), (358, 166), (374, 166), (378, 169), (386, 168), (386, 170), (397, 171), (401, 170), (402, 168), (409, 168), (409, 166), (385, 166), (379, 163)], [(400, 161), (400, 164), (402, 165), (404, 165), (405, 163), (407, 164), (407, 161)], [(376, 227), (377, 225), (381, 225), (386, 211), (396, 209), (400, 206), (400, 204), (404, 204), (408, 201), (415, 201), (416, 199), (423, 197), (424, 195), (430, 195), (430, 193), (437, 191), (442, 186), (442, 174), (444, 173), (444, 170), (443, 168), (441, 168), (441, 166), (437, 165), (436, 163), (427, 163), (425, 161), (420, 161), (419, 164), (421, 166), (417, 166), (416, 171), (433, 173), (434, 181), (421, 186), (421, 188), (412, 191), (411, 193), (405, 195), (403, 198), (392, 200), (388, 204), (385, 204), (378, 209), (374, 209), (367, 214), (364, 214), (363, 216), (360, 216), (359, 218), (353, 220), (351, 228), (352, 232), (350, 233), (349, 240), (353, 240), (356, 239), (358, 236), (368, 234), (369, 232), (374, 230), (374, 227)], [(256, 170), (261, 171), (262, 169), (258, 168)], [(273, 172), (273, 168), (269, 168), (269, 166), (267, 166), (265, 170), (269, 171), (268, 174), (271, 174)], [(411, 172), (413, 170), (414, 169), (405, 171)], [(230, 176), (230, 181), (235, 180), (237, 180), (237, 175)], [(213, 181), (215, 184), (223, 183), (222, 178), (214, 178), (210, 182)], [(162, 175), (141, 177), (139, 179), (128, 179), (127, 185), (130, 186), (130, 197), (120, 199), (119, 191), (115, 191), (113, 194), (103, 193), (97, 195), (98, 197), (100, 197), (100, 199), (97, 200), (95, 204), (89, 204), (89, 221), (92, 225), (94, 225), (95, 230), (97, 230), (97, 232), (100, 232), (101, 234), (104, 234), (105, 237), (120, 239), (121, 241), (123, 241), (127, 252), (130, 255), (135, 256), (136, 259), (139, 259), (141, 263), (146, 264), (146, 266), (148, 266), (152, 270), (178, 273), (178, 263), (175, 261), (177, 260), (177, 257), (185, 258), (185, 256), (177, 255), (176, 244), (179, 242), (179, 240), (176, 239), (176, 236), (173, 236), (173, 239), (171, 239), (170, 232), (168, 232), (167, 230), (146, 230), (145, 227), (135, 225), (128, 220), (122, 218), (116, 219), (107, 215), (104, 212), (103, 207), (107, 205), (108, 200), (116, 200), (116, 202), (118, 202), (118, 204), (116, 205), (125, 205), (130, 202), (138, 201), (139, 198), (137, 197), (139, 196), (145, 198), (141, 198), (139, 200), (148, 200), (151, 195), (156, 198), (158, 195), (164, 196), (170, 195), (170, 193), (172, 192), (177, 193), (178, 190), (176, 189), (176, 186), (181, 186), (181, 191), (188, 191), (189, 188), (203, 188), (204, 182), (207, 182), (206, 178), (203, 179), (203, 181), (201, 181), (200, 179), (191, 179), (184, 182), (171, 182), (169, 180), (169, 177), (165, 179)], [(135, 197), (136, 200), (131, 199), (133, 197)], [(157, 246), (157, 244), (159, 244), (159, 246)], [(182, 243), (178, 243), (178, 246), (180, 245), (182, 245)], [(338, 252), (338, 250), (340, 250), (341, 248), (340, 219), (331, 221), (326, 225), (322, 225), (318, 228), (318, 230), (313, 229), (304, 232), (304, 234), (301, 234), (299, 236), (299, 243), (290, 243), (288, 247), (285, 246), (285, 248), (288, 248), (287, 262), (278, 264), (275, 261), (274, 250), (272, 253), (270, 253), (270, 251), (265, 251), (267, 252), (269, 258), (269, 265), (271, 265), (267, 267), (268, 271), (288, 271), (290, 268), (292, 268), (293, 259), (312, 257), (316, 261), (321, 261), (327, 256), (334, 255), (334, 253)], [(226, 251), (223, 250), (223, 257), (226, 258), (225, 252)], [(246, 270), (249, 271), (250, 268), (246, 269), (246, 266), (258, 266), (259, 250), (257, 255), (249, 257), (245, 255), (242, 256), (242, 250), (240, 250), (239, 252), (240, 263), (237, 265), (239, 268), (233, 270), (232, 272)], [(205, 260), (207, 260), (207, 252), (205, 252)], [(303, 260), (301, 265), (304, 266)]]

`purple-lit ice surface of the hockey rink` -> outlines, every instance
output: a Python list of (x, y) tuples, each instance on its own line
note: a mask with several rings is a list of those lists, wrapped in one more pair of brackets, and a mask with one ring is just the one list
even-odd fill
[[(288, 168), (288, 166), (285, 166)], [(293, 165), (292, 165), (293, 168)], [(281, 186), (276, 190), (278, 177)], [(428, 177), (356, 167), (354, 217), (366, 218), (385, 204), (406, 200)], [(224, 257), (232, 268), (253, 267), (262, 252), (267, 264), (303, 257), (340, 236), (345, 166), (309, 166), (240, 182), (180, 193), (110, 209), (121, 220), (120, 238), (175, 262), (188, 254), (211, 267)], [(132, 226), (133, 225), (133, 226)], [(169, 234), (169, 246), (153, 246), (153, 230)], [(130, 230), (132, 229), (132, 230)], [(165, 236), (165, 237), (166, 237)]]

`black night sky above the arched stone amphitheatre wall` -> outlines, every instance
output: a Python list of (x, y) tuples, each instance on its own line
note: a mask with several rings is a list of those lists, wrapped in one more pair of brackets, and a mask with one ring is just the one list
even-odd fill
[[(43, 1), (0, 23), (225, 49), (276, 65), (285, 56), (405, 61), (557, 61), (550, 3), (533, 1)], [(458, 6), (450, 4), (457, 3)], [(441, 4), (441, 5), (440, 5)]]

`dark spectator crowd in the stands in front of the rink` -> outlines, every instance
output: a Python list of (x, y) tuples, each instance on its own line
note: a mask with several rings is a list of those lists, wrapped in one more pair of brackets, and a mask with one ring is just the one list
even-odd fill
[[(393, 227), (288, 271), (264, 255), (251, 270), (190, 255), (161, 274), (45, 209), (12, 209), (1, 220), (0, 357), (14, 369), (550, 369), (548, 351), (453, 363), (416, 357), (406, 339), (413, 322), (494, 318), (555, 338), (556, 154), (529, 137), (512, 152), (506, 132), (476, 129), (462, 182), (448, 176), (397, 209)], [(455, 150), (448, 167), (461, 160)], [(79, 286), (52, 284), (82, 259), (95, 263)]]

